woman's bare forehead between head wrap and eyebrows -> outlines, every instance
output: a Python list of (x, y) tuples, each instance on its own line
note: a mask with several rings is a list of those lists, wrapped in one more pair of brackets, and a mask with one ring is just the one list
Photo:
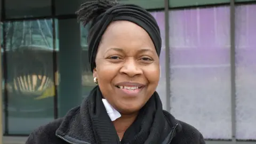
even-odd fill
[(146, 47), (155, 51), (154, 43), (147, 31), (129, 21), (114, 21), (110, 23), (102, 36), (101, 44), (105, 50), (108, 47), (119, 47), (129, 50)]

